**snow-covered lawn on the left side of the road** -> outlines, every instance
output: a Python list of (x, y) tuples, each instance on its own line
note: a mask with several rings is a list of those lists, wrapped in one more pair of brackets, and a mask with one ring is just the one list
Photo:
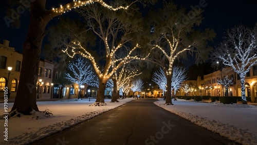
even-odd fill
[[(4, 119), (0, 119), (1, 140), (0, 144), (28, 144), (39, 140), (50, 134), (56, 133), (68, 127), (74, 126), (82, 121), (93, 118), (108, 110), (123, 105), (131, 101), (131, 98), (119, 99), (120, 102), (111, 103), (111, 99), (105, 99), (106, 106), (89, 106), (96, 99), (79, 100), (67, 99), (60, 101), (38, 101), (40, 111), (49, 109), (53, 115), (46, 117), (36, 112), (33, 115), (21, 115), (8, 119), (8, 141), (4, 140)], [(13, 103), (8, 103), (10, 111)], [(0, 109), (4, 111), (1, 103)]]

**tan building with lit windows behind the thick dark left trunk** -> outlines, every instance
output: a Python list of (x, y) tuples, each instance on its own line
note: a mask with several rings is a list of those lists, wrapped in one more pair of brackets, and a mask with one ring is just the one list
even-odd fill
[[(10, 89), (10, 98), (16, 97), (20, 80), (23, 54), (9, 46), (9, 41), (0, 44), (0, 99), (4, 98), (4, 88)], [(9, 71), (8, 67), (12, 69)], [(36, 80), (36, 97), (51, 98), (53, 63), (40, 60), (38, 80)], [(9, 79), (8, 79), (9, 77)]]

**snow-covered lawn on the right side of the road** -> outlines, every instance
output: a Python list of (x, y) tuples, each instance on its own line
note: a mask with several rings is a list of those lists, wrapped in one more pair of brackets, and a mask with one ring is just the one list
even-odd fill
[(159, 99), (154, 103), (230, 140), (257, 144), (257, 107), (253, 105), (224, 105), (181, 99), (172, 102), (174, 105), (164, 105), (165, 101)]

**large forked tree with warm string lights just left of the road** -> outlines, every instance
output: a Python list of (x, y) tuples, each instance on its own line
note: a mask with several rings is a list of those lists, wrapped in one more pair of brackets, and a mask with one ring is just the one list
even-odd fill
[[(94, 66), (99, 79), (97, 102), (104, 104), (104, 90), (106, 82), (123, 65), (133, 59), (142, 59), (143, 51), (137, 44), (139, 32), (141, 31), (141, 15), (134, 10), (131, 11), (109, 11), (97, 5), (83, 7), (80, 14), (85, 18), (86, 28), (93, 31), (102, 41), (103, 50), (98, 56), (94, 56), (83, 46), (83, 43), (74, 42), (65, 52), (72, 51), (71, 57), (81, 54), (89, 59)], [(131, 17), (128, 14), (133, 14)], [(122, 55), (121, 55), (122, 54)], [(104, 65), (95, 60), (102, 58)], [(100, 69), (102, 66), (103, 69)], [(114, 82), (114, 84), (116, 84)]]

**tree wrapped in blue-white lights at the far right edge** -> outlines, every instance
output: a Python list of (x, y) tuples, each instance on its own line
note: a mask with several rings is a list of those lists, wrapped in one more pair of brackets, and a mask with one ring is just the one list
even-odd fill
[(257, 26), (250, 28), (235, 26), (225, 32), (223, 42), (211, 53), (213, 61), (221, 60), (240, 76), (242, 103), (247, 104), (245, 76), (251, 67), (257, 64)]

